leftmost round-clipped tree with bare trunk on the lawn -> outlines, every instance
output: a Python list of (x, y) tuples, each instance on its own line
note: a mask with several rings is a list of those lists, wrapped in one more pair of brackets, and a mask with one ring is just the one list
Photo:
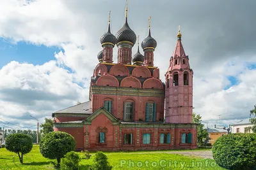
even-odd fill
[(27, 134), (10, 134), (5, 141), (6, 149), (18, 153), (20, 163), (23, 164), (23, 155), (29, 153), (33, 147), (33, 141)]

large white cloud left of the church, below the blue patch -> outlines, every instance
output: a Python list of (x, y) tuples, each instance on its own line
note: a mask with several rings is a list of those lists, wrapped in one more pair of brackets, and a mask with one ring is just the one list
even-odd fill
[[(0, 70), (0, 118), (45, 116), (88, 98), (88, 89), (73, 83), (74, 74), (49, 61), (42, 66), (12, 61)], [(23, 119), (23, 118), (22, 118)]]

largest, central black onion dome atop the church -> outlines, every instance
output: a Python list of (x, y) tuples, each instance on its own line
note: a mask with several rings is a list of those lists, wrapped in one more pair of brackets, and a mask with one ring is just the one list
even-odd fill
[(116, 32), (116, 43), (119, 43), (121, 41), (129, 41), (133, 44), (136, 43), (136, 34), (129, 27), (127, 23), (127, 18), (125, 18), (124, 26)]

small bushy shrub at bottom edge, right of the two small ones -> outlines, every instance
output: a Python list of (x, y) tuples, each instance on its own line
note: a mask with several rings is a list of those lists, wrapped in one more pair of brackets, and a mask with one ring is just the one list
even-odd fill
[(95, 163), (92, 166), (93, 170), (111, 170), (112, 166), (109, 165), (108, 157), (103, 152), (95, 154)]

